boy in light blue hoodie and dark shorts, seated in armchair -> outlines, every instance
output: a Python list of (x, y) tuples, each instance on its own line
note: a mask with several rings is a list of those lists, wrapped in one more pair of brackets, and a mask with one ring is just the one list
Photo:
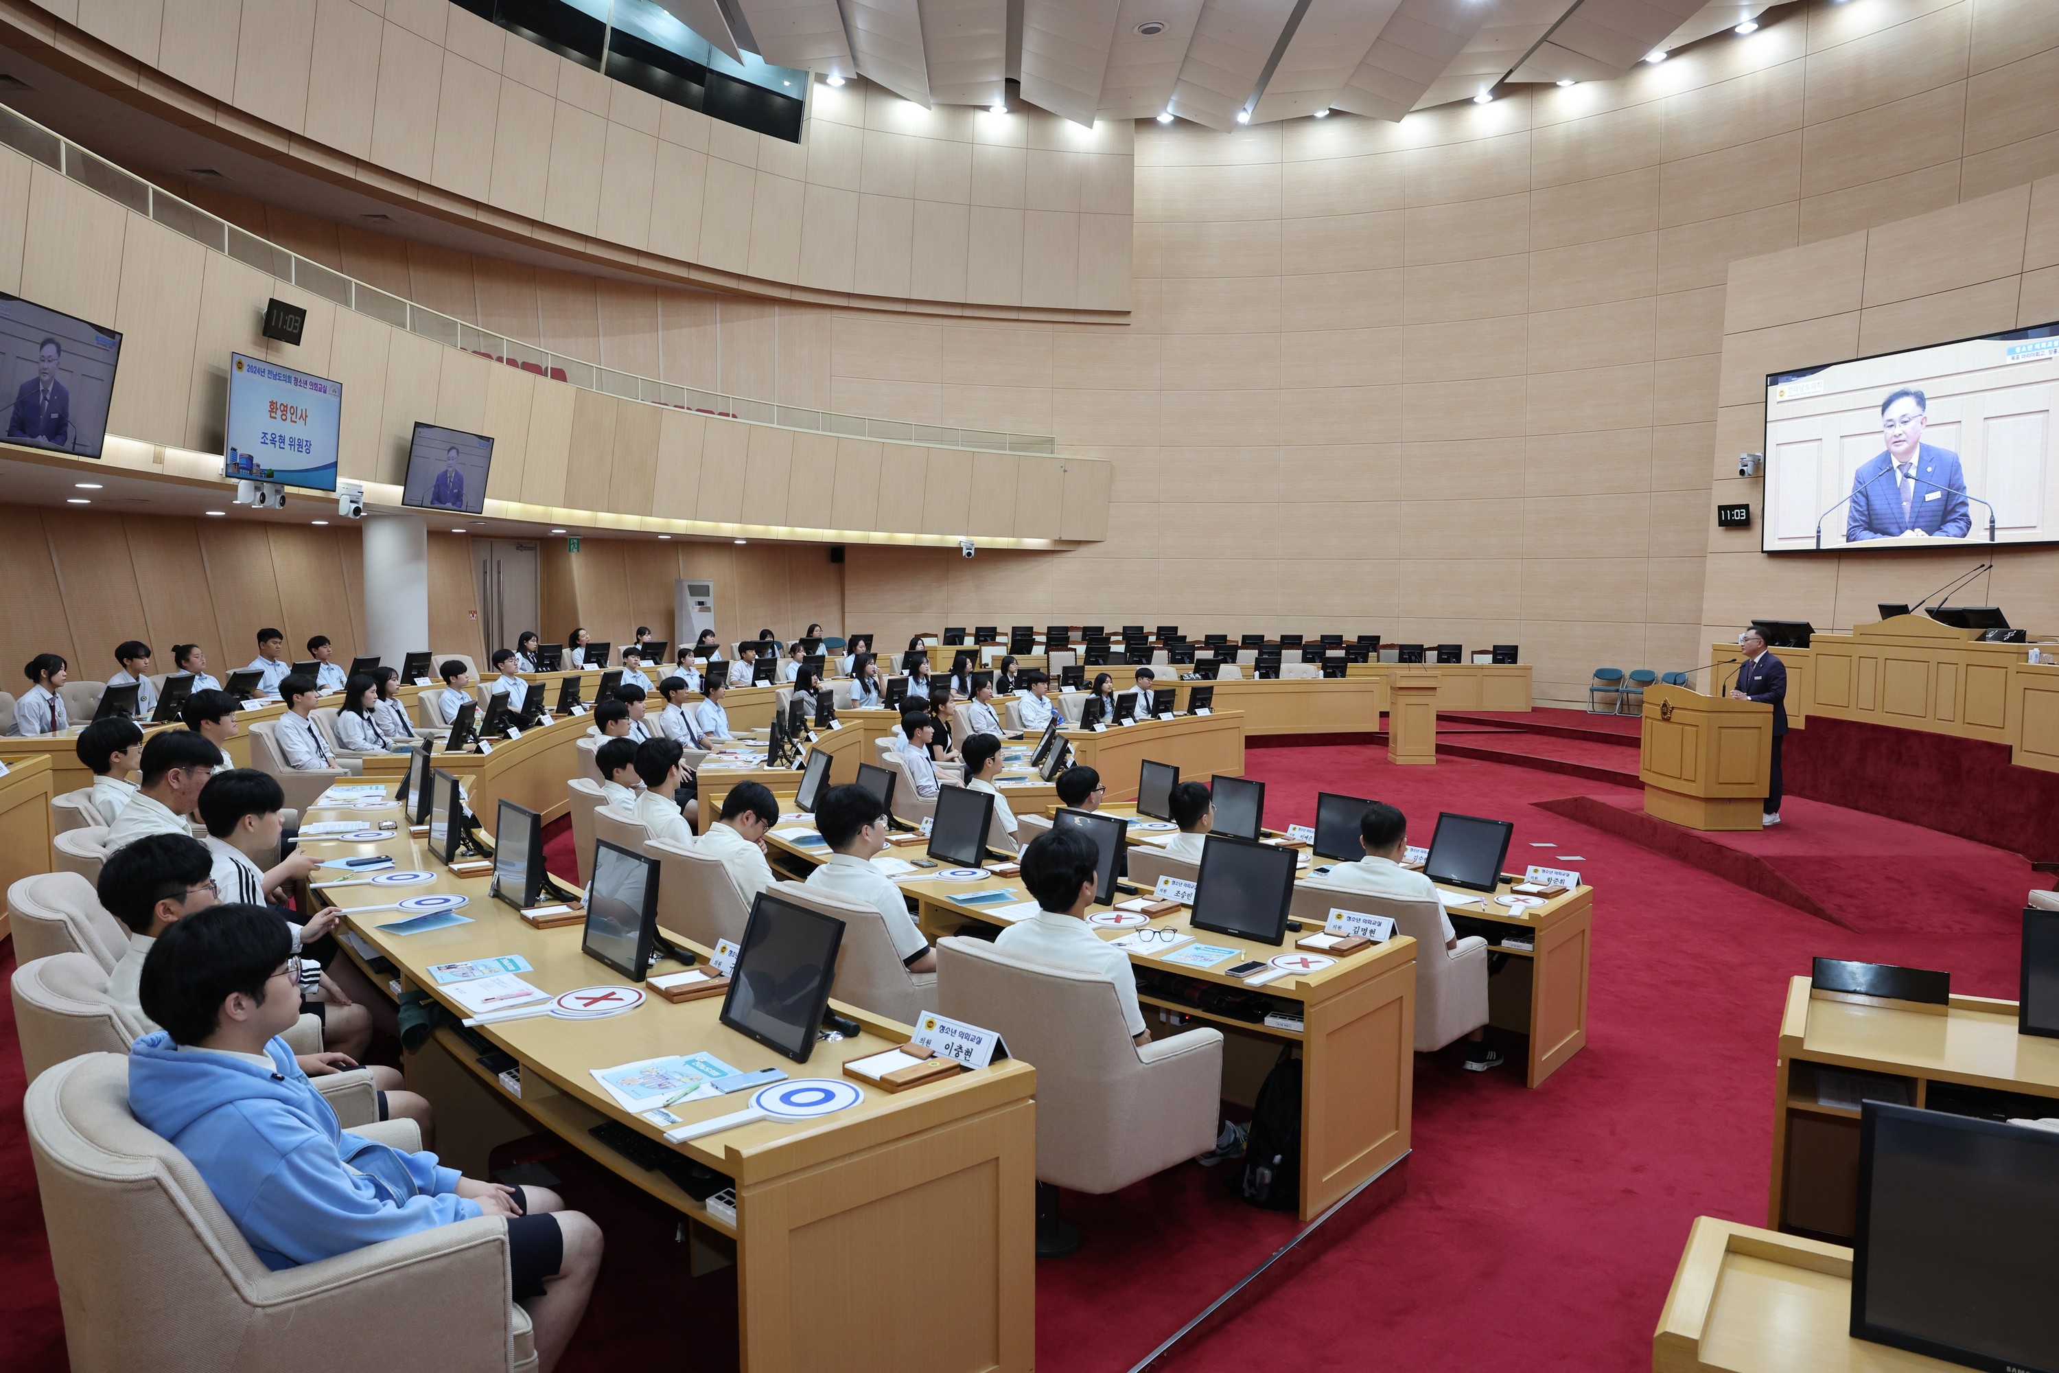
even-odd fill
[(253, 906), (165, 930), (142, 974), (144, 1011), (165, 1029), (130, 1052), (136, 1120), (194, 1163), (272, 1270), (507, 1217), (511, 1295), (548, 1373), (587, 1309), (599, 1227), (544, 1188), (474, 1182), (342, 1130), (278, 1037), (301, 1015), (294, 972), (286, 930)]

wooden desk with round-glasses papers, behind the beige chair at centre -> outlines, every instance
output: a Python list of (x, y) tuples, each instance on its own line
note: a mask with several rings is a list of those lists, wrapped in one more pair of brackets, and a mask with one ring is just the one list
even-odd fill
[[(902, 891), (916, 897), (922, 932), (951, 935), (968, 920), (1005, 924), (976, 910), (951, 904), (949, 897), (970, 891), (1013, 887), (1023, 893), (1021, 879), (988, 877), (984, 881), (906, 881)], [(1102, 910), (1102, 908), (1097, 908)], [(1293, 953), (1291, 945), (1270, 947), (1227, 935), (1194, 930), (1188, 912), (1161, 916), (1157, 926), (1174, 926), (1200, 943), (1244, 945), (1248, 957)], [(1116, 939), (1124, 930), (1097, 930)], [(1186, 947), (1186, 945), (1182, 945)], [(1167, 1000), (1149, 988), (1137, 988), (1147, 1007), (1176, 1011), (1207, 1021), (1223, 1031), (1223, 1087), (1235, 1093), (1231, 1077), (1240, 1062), (1258, 1077), (1272, 1066), (1281, 1046), (1301, 1050), (1301, 1219), (1310, 1221), (1330, 1202), (1373, 1177), (1408, 1153), (1410, 1099), (1415, 1091), (1415, 959), (1412, 939), (1390, 939), (1384, 945), (1340, 957), (1312, 976), (1287, 976), (1260, 990), (1279, 1007), (1299, 1011), (1303, 1027), (1268, 1029), (1250, 1021), (1211, 1015), (1196, 1007)], [(1233, 967), (1227, 959), (1217, 967)], [(1219, 972), (1196, 967), (1165, 967), (1159, 959), (1130, 955), (1143, 970), (1180, 974), (1200, 982), (1242, 988), (1244, 984)], [(1147, 1013), (1149, 1017), (1149, 1013)], [(1163, 1021), (1147, 1019), (1155, 1035), (1176, 1033)], [(1182, 1025), (1184, 1029), (1184, 1025)]]

